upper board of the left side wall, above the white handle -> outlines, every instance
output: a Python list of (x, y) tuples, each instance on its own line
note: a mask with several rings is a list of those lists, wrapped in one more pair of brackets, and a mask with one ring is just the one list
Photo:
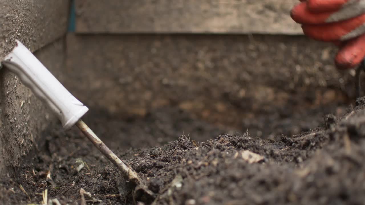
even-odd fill
[(0, 0), (0, 58), (20, 40), (35, 51), (67, 31), (69, 0)]

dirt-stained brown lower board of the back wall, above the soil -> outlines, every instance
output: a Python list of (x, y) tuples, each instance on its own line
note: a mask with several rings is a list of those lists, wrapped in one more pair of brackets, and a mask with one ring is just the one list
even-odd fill
[(304, 36), (69, 34), (60, 80), (121, 118), (171, 105), (242, 128), (351, 101), (354, 72), (335, 69), (336, 50)]

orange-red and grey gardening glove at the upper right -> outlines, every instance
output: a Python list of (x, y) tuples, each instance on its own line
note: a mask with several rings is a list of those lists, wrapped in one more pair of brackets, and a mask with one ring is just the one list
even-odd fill
[(365, 57), (365, 0), (300, 0), (291, 11), (306, 36), (339, 47), (338, 69), (350, 69)]

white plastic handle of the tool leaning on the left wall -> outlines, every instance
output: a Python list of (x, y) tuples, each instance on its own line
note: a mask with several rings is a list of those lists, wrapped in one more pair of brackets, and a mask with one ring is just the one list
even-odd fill
[(65, 129), (72, 127), (89, 110), (78, 101), (39, 60), (22, 44), (9, 53), (4, 67), (19, 76), (32, 92), (45, 102), (61, 120)]

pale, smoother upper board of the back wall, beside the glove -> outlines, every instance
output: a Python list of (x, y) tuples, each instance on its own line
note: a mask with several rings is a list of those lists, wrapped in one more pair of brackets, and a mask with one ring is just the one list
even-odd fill
[(302, 34), (298, 0), (76, 0), (80, 33)]

